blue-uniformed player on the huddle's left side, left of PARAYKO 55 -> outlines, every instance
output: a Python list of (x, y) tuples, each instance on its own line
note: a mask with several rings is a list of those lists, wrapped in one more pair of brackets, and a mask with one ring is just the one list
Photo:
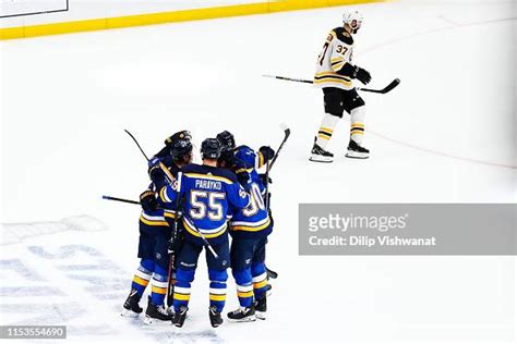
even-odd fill
[[(156, 163), (161, 161), (172, 175), (177, 175), (181, 167), (192, 160), (192, 144), (187, 137), (180, 138), (182, 132), (172, 135), (168, 145), (169, 155), (154, 159), (149, 169), (153, 183), (141, 194), (142, 212), (140, 217), (139, 258), (141, 262), (134, 274), (131, 292), (123, 305), (123, 316), (137, 317), (143, 309), (139, 302), (146, 286), (152, 284), (152, 292), (145, 310), (145, 322), (154, 320), (171, 320), (171, 315), (164, 307), (164, 298), (168, 286), (169, 255), (167, 251), (170, 238), (169, 219), (175, 218), (175, 211), (158, 207), (156, 191), (166, 185), (167, 179)], [(169, 220), (171, 221), (171, 220)]]

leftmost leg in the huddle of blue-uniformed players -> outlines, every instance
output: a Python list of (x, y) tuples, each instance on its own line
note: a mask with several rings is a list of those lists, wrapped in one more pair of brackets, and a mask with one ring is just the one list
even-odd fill
[(154, 239), (153, 236), (147, 233), (147, 229), (144, 223), (140, 223), (140, 238), (139, 238), (139, 255), (141, 258), (140, 266), (136, 269), (133, 281), (131, 282), (131, 291), (123, 305), (122, 316), (136, 318), (141, 312), (142, 308), (139, 303), (144, 295), (145, 288), (149, 283), (155, 269), (154, 265), (154, 253), (153, 253)]

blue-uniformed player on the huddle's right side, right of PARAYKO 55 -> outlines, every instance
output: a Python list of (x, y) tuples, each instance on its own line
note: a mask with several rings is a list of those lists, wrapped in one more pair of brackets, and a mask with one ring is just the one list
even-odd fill
[(265, 319), (265, 247), (267, 236), (273, 231), (273, 219), (265, 206), (265, 197), (268, 195), (265, 195), (263, 179), (255, 168), (272, 159), (274, 151), (268, 147), (262, 147), (258, 152), (248, 146), (235, 147), (233, 136), (229, 132), (223, 132), (217, 137), (226, 148), (227, 160), (221, 162), (236, 171), (240, 183), (251, 195), (250, 206), (236, 209), (230, 221), (231, 271), (237, 283), (240, 307), (230, 311), (228, 318), (233, 321)]

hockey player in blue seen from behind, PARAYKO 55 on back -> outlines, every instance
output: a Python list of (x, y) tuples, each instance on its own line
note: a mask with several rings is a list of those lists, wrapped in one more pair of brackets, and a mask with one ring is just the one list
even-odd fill
[[(184, 197), (182, 226), (184, 243), (176, 259), (176, 285), (173, 294), (175, 317), (172, 322), (181, 328), (187, 318), (197, 259), (203, 247), (208, 266), (209, 319), (214, 328), (223, 323), (220, 312), (226, 302), (227, 268), (229, 266), (229, 239), (227, 229), (228, 209), (248, 207), (250, 195), (229, 170), (217, 168), (221, 146), (215, 138), (207, 138), (201, 146), (203, 164), (189, 164), (182, 169), (177, 183), (179, 191), (165, 186), (159, 195), (165, 207), (175, 204), (177, 197)], [(215, 256), (212, 250), (215, 253)]]

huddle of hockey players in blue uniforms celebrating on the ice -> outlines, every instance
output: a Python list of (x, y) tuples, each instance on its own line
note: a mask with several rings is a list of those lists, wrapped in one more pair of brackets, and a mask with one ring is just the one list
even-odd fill
[(228, 268), (240, 304), (228, 312), (228, 319), (265, 319), (269, 287), (265, 247), (273, 219), (266, 206), (268, 176), (260, 175), (257, 169), (267, 165), (275, 151), (237, 146), (233, 135), (225, 131), (203, 140), (203, 162), (195, 164), (188, 131), (173, 134), (165, 144), (149, 160), (151, 185), (140, 196), (141, 262), (122, 315), (139, 317), (140, 300), (151, 284), (144, 321), (171, 321), (181, 328), (197, 259), (205, 248), (212, 327), (223, 323)]

